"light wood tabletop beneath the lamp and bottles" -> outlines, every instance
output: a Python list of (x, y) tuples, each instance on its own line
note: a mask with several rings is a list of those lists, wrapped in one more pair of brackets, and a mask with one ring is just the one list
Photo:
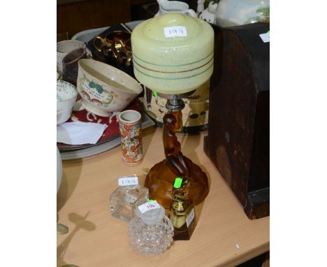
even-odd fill
[[(57, 266), (235, 266), (269, 250), (269, 217), (249, 220), (219, 171), (203, 152), (203, 136), (178, 133), (182, 152), (207, 173), (210, 192), (191, 240), (174, 241), (163, 254), (143, 256), (127, 240), (128, 224), (111, 216), (110, 194), (117, 177), (136, 173), (164, 158), (161, 129), (143, 132), (144, 159), (122, 163), (120, 147), (92, 157), (63, 161), (57, 194), (58, 222), (69, 232), (57, 236)], [(199, 211), (199, 210), (198, 210)]]

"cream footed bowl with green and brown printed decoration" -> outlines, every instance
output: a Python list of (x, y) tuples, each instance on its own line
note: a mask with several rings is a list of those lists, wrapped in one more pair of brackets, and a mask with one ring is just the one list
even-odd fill
[(93, 59), (78, 62), (77, 89), (82, 106), (102, 117), (122, 111), (143, 91), (130, 75)]

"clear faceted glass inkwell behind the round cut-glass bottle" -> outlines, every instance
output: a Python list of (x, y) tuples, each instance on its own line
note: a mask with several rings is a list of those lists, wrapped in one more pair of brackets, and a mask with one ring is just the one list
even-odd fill
[(130, 222), (139, 205), (149, 200), (149, 189), (141, 185), (119, 186), (110, 196), (113, 217)]

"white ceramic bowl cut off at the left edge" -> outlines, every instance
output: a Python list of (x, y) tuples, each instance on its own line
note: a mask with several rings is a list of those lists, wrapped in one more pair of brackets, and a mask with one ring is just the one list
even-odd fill
[(71, 117), (78, 96), (76, 87), (64, 80), (57, 80), (57, 125)]

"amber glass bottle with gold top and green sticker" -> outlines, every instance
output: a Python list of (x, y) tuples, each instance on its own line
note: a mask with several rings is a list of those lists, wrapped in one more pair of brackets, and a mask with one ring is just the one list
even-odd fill
[(189, 180), (176, 178), (169, 219), (174, 226), (174, 240), (189, 240), (196, 227), (194, 202), (189, 199)]

